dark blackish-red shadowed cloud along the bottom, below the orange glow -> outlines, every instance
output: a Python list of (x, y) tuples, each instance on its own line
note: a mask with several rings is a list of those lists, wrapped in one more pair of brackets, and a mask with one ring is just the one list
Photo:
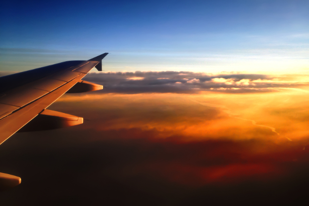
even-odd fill
[[(157, 139), (159, 131), (140, 128), (59, 131), (19, 133), (1, 145), (0, 171), (22, 177), (21, 185), (0, 194), (1, 204), (274, 205), (307, 200), (309, 153), (299, 144), (181, 142), (179, 136)], [(272, 149), (252, 153), (257, 146)], [(263, 168), (266, 174), (254, 174)], [(223, 183), (203, 179), (213, 171)]]

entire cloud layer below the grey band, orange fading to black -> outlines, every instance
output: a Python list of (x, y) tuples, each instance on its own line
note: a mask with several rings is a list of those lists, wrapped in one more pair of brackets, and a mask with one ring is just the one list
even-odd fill
[[(6, 140), (0, 172), (20, 176), (22, 184), (0, 194), (1, 203), (228, 205), (233, 200), (251, 205), (255, 200), (257, 205), (274, 205), (307, 197), (308, 110), (303, 95), (256, 94), (245, 100), (200, 95), (197, 101), (205, 105), (192, 97), (197, 98), (65, 95), (48, 109), (83, 116), (84, 123), (17, 133)], [(272, 103), (260, 103), (261, 97), (272, 97)], [(280, 134), (290, 137), (289, 131), (300, 131), (301, 138), (288, 141), (270, 128), (221, 111), (227, 108), (230, 113), (254, 109), (259, 124), (277, 128), (273, 124), (279, 122)]]

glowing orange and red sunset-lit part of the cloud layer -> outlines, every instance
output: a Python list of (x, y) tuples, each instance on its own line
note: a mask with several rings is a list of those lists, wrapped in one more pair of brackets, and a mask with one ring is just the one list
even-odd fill
[(52, 107), (84, 107), (91, 102), (89, 111), (76, 112), (90, 120), (77, 129), (96, 134), (87, 141), (147, 139), (170, 145), (146, 164), (129, 167), (200, 187), (284, 178), (294, 172), (287, 165), (308, 164), (307, 95), (306, 88), (253, 94), (112, 93), (65, 96)]

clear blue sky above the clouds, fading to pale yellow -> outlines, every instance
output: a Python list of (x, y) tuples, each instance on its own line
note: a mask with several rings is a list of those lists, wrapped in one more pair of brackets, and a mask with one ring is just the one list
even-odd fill
[(109, 71), (307, 73), (308, 0), (0, 3), (0, 71), (109, 52)]

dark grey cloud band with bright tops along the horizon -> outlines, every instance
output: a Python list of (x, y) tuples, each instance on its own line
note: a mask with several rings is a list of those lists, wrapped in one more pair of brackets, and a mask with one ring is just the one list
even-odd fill
[(104, 86), (102, 93), (223, 93), (276, 92), (308, 83), (281, 82), (276, 77), (259, 74), (207, 75), (193, 72), (109, 72), (90, 73), (84, 80)]

